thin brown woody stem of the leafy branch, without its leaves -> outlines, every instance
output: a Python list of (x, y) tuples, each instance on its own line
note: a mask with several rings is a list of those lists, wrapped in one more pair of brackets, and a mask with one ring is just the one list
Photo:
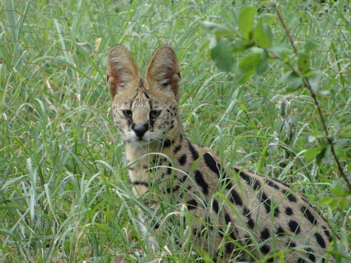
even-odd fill
[[(285, 30), (285, 33), (286, 35), (288, 36), (289, 40), (290, 40), (290, 44), (291, 44), (291, 47), (293, 48), (294, 52), (296, 55), (298, 55), (298, 52), (297, 52), (297, 49), (295, 47), (295, 44), (294, 44), (294, 41), (292, 39), (292, 36), (290, 35), (290, 31), (289, 29), (286, 27), (285, 23), (284, 23), (284, 20), (283, 18), (281, 17), (279, 11), (278, 11), (278, 8), (277, 8), (277, 4), (276, 3), (272, 3), (274, 9), (275, 9), (275, 13), (277, 14), (281, 24), (283, 25), (283, 28)], [(337, 169), (339, 170), (341, 176), (343, 177), (343, 179), (345, 180), (349, 190), (351, 191), (351, 184), (350, 182), (348, 181), (347, 177), (346, 177), (346, 174), (344, 173), (344, 171), (342, 170), (342, 167), (341, 167), (341, 164), (339, 162), (339, 159), (337, 158), (336, 156), (336, 153), (335, 153), (335, 149), (334, 149), (334, 145), (333, 145), (333, 141), (332, 139), (329, 137), (329, 133), (328, 133), (328, 129), (325, 125), (325, 121), (324, 121), (324, 118), (323, 118), (323, 114), (322, 114), (322, 110), (320, 109), (319, 107), (319, 103), (317, 101), (317, 97), (316, 97), (316, 94), (314, 93), (314, 91), (312, 90), (312, 87), (311, 85), (309, 84), (309, 81), (308, 81), (308, 78), (307, 77), (302, 77), (302, 81), (303, 81), (303, 84), (307, 87), (307, 89), (309, 90), (309, 92), (311, 93), (311, 96), (314, 100), (314, 104), (316, 105), (317, 109), (318, 109), (318, 114), (319, 114), (319, 119), (322, 123), (322, 126), (323, 126), (323, 130), (324, 130), (324, 133), (326, 135), (326, 139), (330, 145), (330, 150), (331, 150), (331, 153), (335, 159), (335, 162), (336, 162), (336, 165), (337, 165)]]

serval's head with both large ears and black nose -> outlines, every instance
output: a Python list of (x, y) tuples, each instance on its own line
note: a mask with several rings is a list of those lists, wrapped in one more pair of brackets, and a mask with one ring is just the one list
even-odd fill
[(112, 116), (125, 142), (139, 145), (171, 140), (182, 130), (177, 113), (181, 75), (169, 46), (152, 56), (145, 79), (129, 52), (113, 47), (107, 60), (107, 84)]

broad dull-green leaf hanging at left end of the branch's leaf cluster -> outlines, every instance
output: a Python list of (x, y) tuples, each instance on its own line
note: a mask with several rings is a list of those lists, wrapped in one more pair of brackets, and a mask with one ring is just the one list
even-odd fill
[(234, 58), (227, 39), (218, 40), (216, 47), (211, 50), (211, 58), (220, 70), (229, 72), (232, 69)]

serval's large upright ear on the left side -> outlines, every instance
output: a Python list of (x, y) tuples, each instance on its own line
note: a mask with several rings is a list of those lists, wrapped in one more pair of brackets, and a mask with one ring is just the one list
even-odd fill
[(111, 99), (119, 89), (136, 88), (139, 81), (138, 68), (129, 52), (122, 46), (113, 47), (107, 59), (106, 76)]

